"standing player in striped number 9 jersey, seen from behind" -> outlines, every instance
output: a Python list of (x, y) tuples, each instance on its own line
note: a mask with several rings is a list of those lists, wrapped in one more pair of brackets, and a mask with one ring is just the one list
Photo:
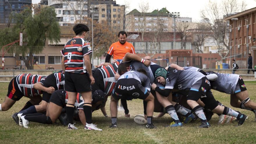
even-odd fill
[(89, 28), (84, 24), (76, 24), (73, 30), (76, 37), (69, 40), (61, 51), (63, 55), (61, 65), (63, 72), (65, 72), (65, 89), (69, 96), (66, 105), (69, 122), (68, 129), (77, 129), (73, 122), (74, 103), (77, 93), (81, 93), (85, 102), (83, 105), (86, 117), (84, 129), (102, 131), (92, 123), (92, 92), (90, 84), (93, 85), (95, 81), (89, 56), (92, 50), (90, 43), (84, 39)]

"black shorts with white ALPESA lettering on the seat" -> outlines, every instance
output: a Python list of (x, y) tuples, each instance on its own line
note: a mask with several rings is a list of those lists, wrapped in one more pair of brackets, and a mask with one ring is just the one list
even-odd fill
[(119, 79), (115, 85), (112, 96), (115, 100), (118, 99), (146, 99), (150, 91), (141, 85), (141, 82), (136, 79)]

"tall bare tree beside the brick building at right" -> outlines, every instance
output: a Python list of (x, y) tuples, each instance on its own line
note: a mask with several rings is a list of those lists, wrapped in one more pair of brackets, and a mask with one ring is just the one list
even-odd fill
[[(229, 25), (228, 22), (223, 20), (223, 16), (241, 12), (245, 8), (245, 1), (239, 3), (237, 0), (223, 0), (222, 3), (217, 3), (216, 0), (209, 0), (205, 9), (200, 12), (202, 19), (205, 21), (205, 27), (213, 32), (210, 37), (215, 40), (221, 58), (226, 57), (230, 50)], [(225, 50), (227, 50), (226, 53)]]

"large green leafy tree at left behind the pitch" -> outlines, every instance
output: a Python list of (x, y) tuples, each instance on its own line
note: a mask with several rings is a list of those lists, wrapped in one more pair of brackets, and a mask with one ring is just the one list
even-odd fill
[[(14, 14), (14, 21), (16, 23), (12, 28), (0, 30), (1, 45), (18, 40), (19, 32), (24, 33), (23, 43), (26, 46), (10, 49), (10, 51), (22, 54), (27, 69), (33, 69), (33, 55), (42, 52), (45, 41), (57, 43), (60, 40), (60, 28), (56, 21), (55, 10), (53, 7), (45, 7), (32, 15), (31, 8), (26, 8), (21, 13)], [(28, 54), (27, 58), (25, 54)]]

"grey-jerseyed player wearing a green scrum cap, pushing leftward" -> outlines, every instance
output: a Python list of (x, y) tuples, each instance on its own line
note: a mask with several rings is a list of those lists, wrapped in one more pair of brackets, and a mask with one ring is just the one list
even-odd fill
[(197, 103), (198, 99), (201, 99), (201, 101), (214, 113), (236, 117), (239, 125), (243, 125), (248, 118), (246, 115), (236, 112), (228, 107), (219, 106), (210, 92), (209, 80), (200, 72), (176, 70), (169, 67), (168, 74), (166, 69), (163, 68), (159, 68), (156, 73), (156, 80), (165, 85), (165, 89), (161, 90), (156, 84), (152, 84), (152, 89), (155, 89), (163, 96), (171, 95), (171, 90), (173, 89), (185, 90), (190, 88), (187, 96), (187, 103), (193, 109), (192, 111), (194, 111), (201, 119), (202, 124), (199, 127), (208, 128), (210, 124), (205, 117), (202, 107)]

